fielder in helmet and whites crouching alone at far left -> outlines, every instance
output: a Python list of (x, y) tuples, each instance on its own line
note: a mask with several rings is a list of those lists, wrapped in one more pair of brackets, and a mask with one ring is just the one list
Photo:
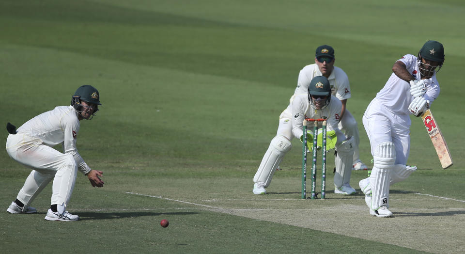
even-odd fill
[[(79, 155), (76, 141), (82, 119), (91, 120), (100, 104), (97, 89), (90, 85), (78, 88), (70, 106), (59, 106), (27, 121), (16, 131), (8, 123), (10, 133), (6, 151), (17, 162), (32, 168), (16, 200), (8, 207), (10, 213), (35, 213), (31, 202), (53, 179), (48, 221), (78, 221), (79, 216), (66, 211), (74, 189), (78, 170), (85, 174), (93, 187), (103, 187), (99, 178), (103, 172), (92, 170)], [(53, 146), (62, 144), (63, 153)]]

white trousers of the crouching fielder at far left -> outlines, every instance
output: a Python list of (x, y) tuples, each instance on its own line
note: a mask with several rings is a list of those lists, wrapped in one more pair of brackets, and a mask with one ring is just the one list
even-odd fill
[(37, 139), (24, 134), (10, 134), (6, 151), (17, 162), (32, 168), (17, 199), (29, 206), (53, 179), (51, 205), (66, 205), (76, 182), (78, 166), (72, 155), (63, 154)]

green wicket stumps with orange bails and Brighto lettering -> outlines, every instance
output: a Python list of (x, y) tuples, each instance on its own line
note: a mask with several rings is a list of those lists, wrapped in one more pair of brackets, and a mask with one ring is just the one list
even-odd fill
[(307, 199), (307, 123), (313, 122), (313, 158), (311, 169), (311, 199), (317, 199), (316, 195), (316, 160), (318, 150), (318, 122), (323, 122), (323, 137), (322, 137), (322, 166), (321, 166), (321, 199), (325, 199), (326, 191), (326, 117), (320, 119), (305, 118), (302, 130), (302, 199)]

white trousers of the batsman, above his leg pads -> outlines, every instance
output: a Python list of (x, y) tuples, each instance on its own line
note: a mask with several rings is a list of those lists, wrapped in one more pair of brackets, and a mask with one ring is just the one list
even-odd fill
[[(344, 116), (345, 118), (345, 116)], [(383, 142), (396, 146), (395, 164), (407, 164), (410, 152), (410, 116), (394, 113), (373, 99), (363, 114), (363, 126), (373, 149)]]

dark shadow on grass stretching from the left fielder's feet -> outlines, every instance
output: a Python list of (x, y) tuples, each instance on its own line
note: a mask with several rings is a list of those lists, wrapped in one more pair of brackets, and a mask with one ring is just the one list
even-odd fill
[(159, 215), (193, 215), (198, 212), (77, 212), (79, 220), (112, 220)]

